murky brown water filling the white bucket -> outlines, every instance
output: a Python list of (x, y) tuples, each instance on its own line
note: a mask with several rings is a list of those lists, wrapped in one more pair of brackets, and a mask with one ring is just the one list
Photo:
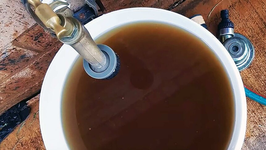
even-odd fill
[(120, 56), (110, 80), (79, 58), (65, 83), (62, 122), (71, 149), (226, 149), (234, 103), (222, 65), (197, 37), (172, 25), (133, 23), (97, 43)]

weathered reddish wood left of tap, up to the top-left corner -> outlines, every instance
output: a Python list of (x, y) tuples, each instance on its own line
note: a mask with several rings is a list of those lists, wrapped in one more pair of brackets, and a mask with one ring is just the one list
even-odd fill
[(39, 91), (62, 45), (39, 27), (20, 0), (0, 4), (0, 114)]

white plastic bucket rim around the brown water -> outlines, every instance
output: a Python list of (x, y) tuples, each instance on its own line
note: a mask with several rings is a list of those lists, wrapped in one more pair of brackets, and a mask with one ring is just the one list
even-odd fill
[[(240, 150), (247, 122), (246, 96), (241, 76), (224, 46), (205, 28), (177, 13), (156, 8), (129, 8), (102, 15), (85, 25), (92, 38), (113, 28), (135, 21), (159, 21), (181, 27), (198, 36), (213, 50), (221, 61), (234, 94), (235, 122), (228, 149)], [(79, 54), (69, 45), (63, 45), (52, 60), (41, 89), (39, 116), (40, 128), (46, 149), (69, 149), (61, 122), (61, 101), (65, 79)], [(214, 137), (215, 138), (215, 137)], [(208, 148), (207, 148), (208, 149)]]

